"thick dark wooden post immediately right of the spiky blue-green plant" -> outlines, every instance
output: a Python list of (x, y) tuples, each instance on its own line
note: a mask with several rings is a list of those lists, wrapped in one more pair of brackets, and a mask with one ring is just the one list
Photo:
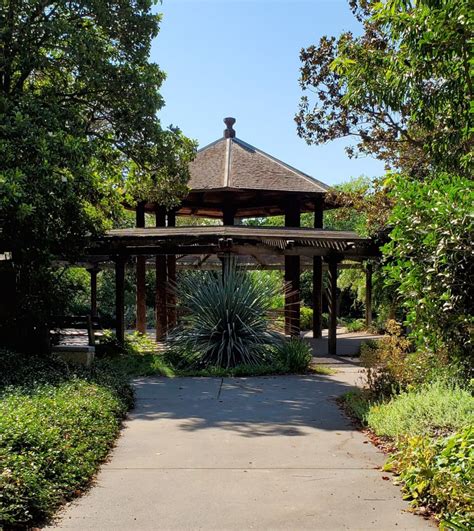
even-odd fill
[[(285, 227), (300, 226), (300, 206), (292, 202), (286, 207)], [(300, 335), (300, 257), (285, 256), (285, 334)]]

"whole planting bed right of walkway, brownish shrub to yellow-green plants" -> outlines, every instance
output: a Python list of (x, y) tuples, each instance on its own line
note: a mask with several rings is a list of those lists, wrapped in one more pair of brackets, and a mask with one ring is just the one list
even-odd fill
[(465, 368), (412, 351), (392, 335), (363, 348), (367, 386), (344, 405), (393, 454), (386, 465), (405, 497), (434, 513), (446, 529), (469, 529), (474, 514), (474, 397)]

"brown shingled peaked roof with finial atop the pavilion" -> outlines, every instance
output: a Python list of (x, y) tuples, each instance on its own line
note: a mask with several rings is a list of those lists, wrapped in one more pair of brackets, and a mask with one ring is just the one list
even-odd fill
[(324, 183), (237, 138), (234, 118), (224, 123), (224, 137), (200, 149), (190, 165), (191, 191), (327, 192)]

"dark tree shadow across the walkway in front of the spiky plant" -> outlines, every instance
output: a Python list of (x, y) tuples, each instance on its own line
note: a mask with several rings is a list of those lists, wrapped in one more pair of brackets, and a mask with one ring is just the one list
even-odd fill
[(354, 388), (335, 376), (149, 378), (135, 382), (131, 420), (179, 419), (184, 432), (220, 428), (242, 437), (353, 430), (335, 399)]

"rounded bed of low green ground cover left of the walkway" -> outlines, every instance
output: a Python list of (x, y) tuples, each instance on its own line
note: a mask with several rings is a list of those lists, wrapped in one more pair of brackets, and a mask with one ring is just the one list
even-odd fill
[(72, 368), (1, 351), (0, 369), (0, 527), (26, 527), (88, 485), (132, 391), (107, 361)]

